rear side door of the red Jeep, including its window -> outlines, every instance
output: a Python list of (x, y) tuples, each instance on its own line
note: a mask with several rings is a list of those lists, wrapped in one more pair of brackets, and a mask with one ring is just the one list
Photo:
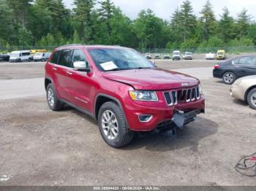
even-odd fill
[(68, 67), (70, 66), (70, 55), (72, 50), (59, 50), (54, 52), (53, 58), (50, 63), (52, 63), (53, 69), (53, 82), (55, 82), (55, 88), (59, 93), (59, 98), (68, 101), (67, 93), (67, 77), (68, 77)]

